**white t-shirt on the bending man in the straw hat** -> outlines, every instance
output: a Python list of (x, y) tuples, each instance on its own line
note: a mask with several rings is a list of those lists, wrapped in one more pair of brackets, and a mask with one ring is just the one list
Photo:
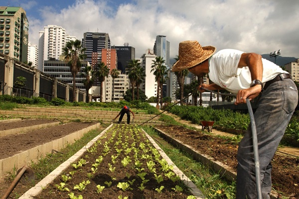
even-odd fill
[[(252, 82), (249, 67), (238, 68), (241, 55), (244, 52), (234, 49), (224, 49), (215, 53), (209, 59), (209, 79), (221, 88), (237, 94), (241, 89), (247, 89)], [(288, 73), (281, 67), (262, 58), (263, 84), (281, 73)]]

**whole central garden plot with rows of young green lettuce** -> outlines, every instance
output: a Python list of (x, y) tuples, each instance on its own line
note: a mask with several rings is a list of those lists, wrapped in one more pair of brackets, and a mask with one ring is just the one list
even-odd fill
[[(33, 198), (195, 199), (183, 182), (193, 183), (174, 173), (175, 166), (161, 157), (142, 129), (114, 124), (98, 137), (61, 173), (53, 171), (57, 177), (47, 186), (32, 188), (42, 190)], [(194, 191), (200, 198), (200, 191)]]

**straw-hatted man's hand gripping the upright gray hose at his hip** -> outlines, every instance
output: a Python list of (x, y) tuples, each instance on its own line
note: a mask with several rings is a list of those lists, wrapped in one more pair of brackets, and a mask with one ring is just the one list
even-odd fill
[(235, 105), (238, 105), (240, 103), (246, 103), (247, 98), (249, 100), (255, 99), (256, 97), (258, 97), (261, 91), (262, 91), (262, 86), (259, 84), (255, 85), (254, 87), (250, 87), (248, 89), (240, 90), (237, 94)]

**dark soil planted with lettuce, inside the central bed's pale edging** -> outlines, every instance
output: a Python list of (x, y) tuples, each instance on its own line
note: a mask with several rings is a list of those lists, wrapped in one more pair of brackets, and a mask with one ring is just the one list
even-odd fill
[[(86, 161), (86, 164), (77, 169), (72, 166), (67, 168), (63, 174), (34, 198), (67, 199), (70, 193), (74, 193), (76, 197), (82, 195), (83, 199), (118, 199), (120, 197), (128, 197), (128, 199), (186, 199), (191, 195), (186, 192), (186, 189), (182, 192), (172, 189), (176, 185), (183, 187), (183, 183), (180, 180), (173, 182), (166, 177), (170, 170), (162, 171), (158, 161), (158, 159), (161, 160), (161, 157), (157, 150), (140, 129), (135, 128), (137, 130), (133, 130), (133, 134), (131, 133), (132, 129), (132, 125), (115, 124), (80, 157)], [(144, 147), (141, 143), (144, 144)], [(156, 150), (158, 156), (153, 155), (153, 150)], [(102, 157), (102, 161), (99, 165), (94, 165), (100, 157)], [(114, 159), (114, 157), (116, 158)], [(127, 166), (124, 166), (123, 161), (128, 157), (131, 161)], [(150, 160), (154, 163), (152, 168), (155, 172), (149, 169)], [(80, 160), (76, 162), (76, 165), (79, 162)], [(166, 165), (168, 164), (166, 163)], [(55, 185), (60, 185), (63, 182), (62, 175), (70, 176), (70, 172), (75, 172), (65, 185), (70, 191), (59, 191)], [(139, 176), (142, 173), (146, 174), (145, 179)], [(155, 175), (160, 175), (163, 180), (157, 183)], [(84, 181), (90, 183), (83, 191), (74, 189), (76, 185)], [(109, 182), (111, 182), (111, 186), (107, 184)], [(120, 183), (128, 183), (130, 188), (123, 191), (119, 188)], [(105, 186), (101, 193), (97, 193), (98, 185)], [(164, 186), (164, 189), (158, 193), (156, 189), (161, 186)], [(145, 189), (142, 190), (142, 187)]]

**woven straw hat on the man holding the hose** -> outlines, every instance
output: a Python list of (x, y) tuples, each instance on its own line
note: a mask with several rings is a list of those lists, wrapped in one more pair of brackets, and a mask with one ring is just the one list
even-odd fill
[(178, 47), (179, 60), (173, 65), (171, 71), (176, 72), (192, 68), (209, 59), (215, 50), (214, 46), (201, 47), (198, 41), (182, 41)]

